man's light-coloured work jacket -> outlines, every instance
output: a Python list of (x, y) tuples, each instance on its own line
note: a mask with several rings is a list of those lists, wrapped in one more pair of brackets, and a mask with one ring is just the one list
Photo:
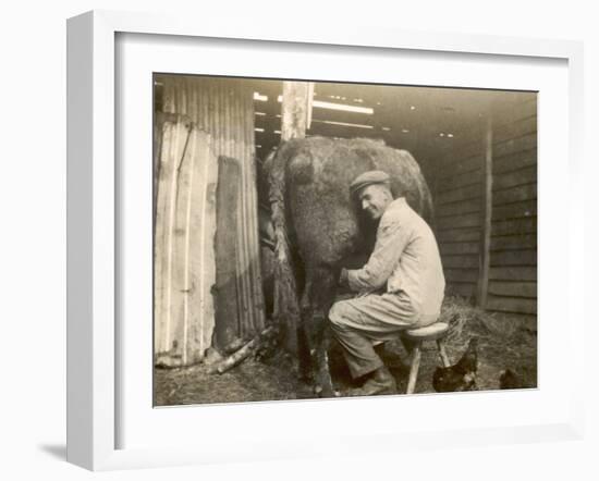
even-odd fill
[(430, 226), (404, 197), (387, 207), (368, 262), (347, 271), (347, 282), (355, 292), (387, 284), (387, 293), (407, 296), (414, 314), (439, 314), (445, 289), (439, 247)]

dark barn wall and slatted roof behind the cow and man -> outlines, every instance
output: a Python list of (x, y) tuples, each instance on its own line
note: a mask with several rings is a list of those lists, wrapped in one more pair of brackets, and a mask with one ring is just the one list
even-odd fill
[[(253, 89), (264, 159), (280, 141), (283, 83), (255, 81)], [(536, 115), (530, 91), (315, 83), (305, 135), (376, 138), (408, 150), (432, 192), (450, 291), (485, 309), (528, 316), (536, 314)]]

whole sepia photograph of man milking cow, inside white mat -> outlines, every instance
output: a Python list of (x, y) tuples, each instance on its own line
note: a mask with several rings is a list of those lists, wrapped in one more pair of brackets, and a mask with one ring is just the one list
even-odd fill
[(537, 387), (537, 91), (152, 83), (155, 407)]

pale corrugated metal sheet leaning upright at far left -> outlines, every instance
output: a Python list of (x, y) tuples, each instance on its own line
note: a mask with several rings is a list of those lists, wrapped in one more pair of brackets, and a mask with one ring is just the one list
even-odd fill
[[(161, 123), (154, 252), (155, 355), (198, 361), (215, 328), (218, 162), (210, 136), (180, 119)], [(162, 360), (160, 357), (162, 356)]]

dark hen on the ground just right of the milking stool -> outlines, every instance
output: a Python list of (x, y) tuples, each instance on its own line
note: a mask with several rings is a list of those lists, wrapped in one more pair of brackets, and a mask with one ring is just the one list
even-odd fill
[(476, 371), (478, 370), (478, 340), (470, 338), (468, 347), (456, 365), (437, 368), (432, 374), (432, 387), (438, 393), (457, 391), (477, 391)]

